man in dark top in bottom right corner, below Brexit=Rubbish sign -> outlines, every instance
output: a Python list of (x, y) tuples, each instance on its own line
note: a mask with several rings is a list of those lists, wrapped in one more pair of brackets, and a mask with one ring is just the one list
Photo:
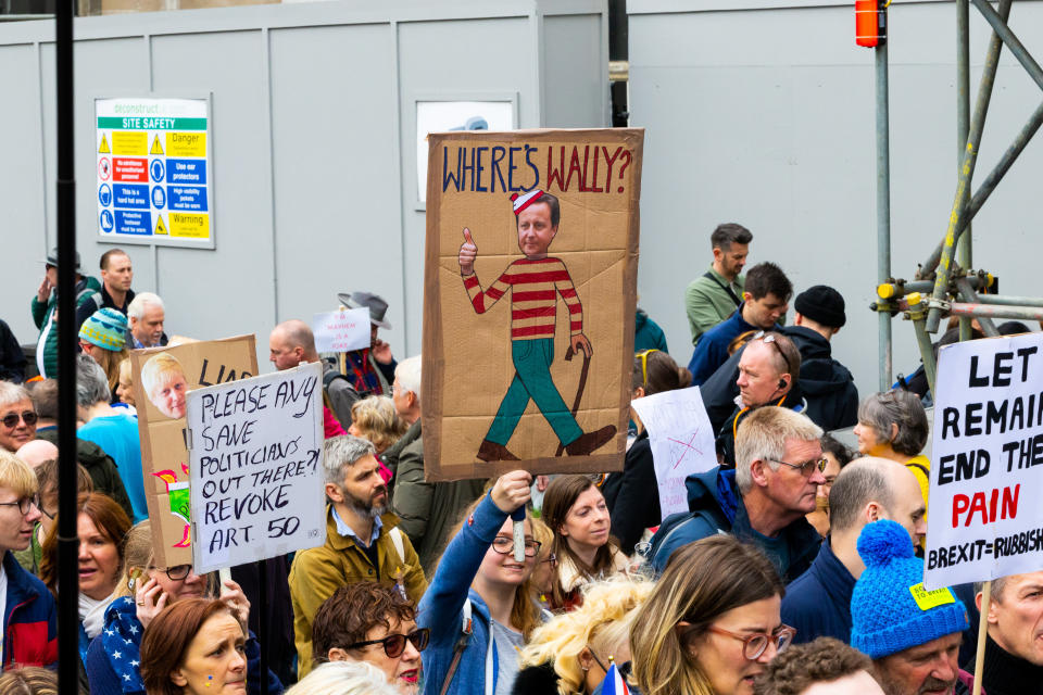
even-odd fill
[[(981, 610), (981, 584), (976, 587)], [(989, 695), (1043, 693), (1043, 571), (992, 580), (981, 677)]]

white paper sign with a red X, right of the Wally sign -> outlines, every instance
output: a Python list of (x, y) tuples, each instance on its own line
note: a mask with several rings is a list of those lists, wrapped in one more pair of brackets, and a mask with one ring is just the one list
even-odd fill
[(662, 517), (688, 511), (684, 479), (717, 465), (714, 432), (699, 387), (648, 395), (630, 405), (649, 430)]

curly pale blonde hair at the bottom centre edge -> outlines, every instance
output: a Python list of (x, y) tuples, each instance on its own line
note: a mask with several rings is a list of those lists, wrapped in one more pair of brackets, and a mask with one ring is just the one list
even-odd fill
[[(532, 632), (531, 641), (522, 649), (518, 667), (551, 662), (561, 695), (583, 693), (580, 653), (595, 642), (600, 647), (625, 644), (637, 609), (653, 587), (650, 580), (624, 576), (586, 585), (579, 608), (555, 616)], [(607, 656), (593, 650), (599, 658)]]

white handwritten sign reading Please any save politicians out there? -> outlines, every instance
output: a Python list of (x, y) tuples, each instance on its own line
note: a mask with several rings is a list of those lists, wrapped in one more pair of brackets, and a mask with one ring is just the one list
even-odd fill
[(189, 391), (187, 419), (197, 572), (323, 544), (322, 365)]

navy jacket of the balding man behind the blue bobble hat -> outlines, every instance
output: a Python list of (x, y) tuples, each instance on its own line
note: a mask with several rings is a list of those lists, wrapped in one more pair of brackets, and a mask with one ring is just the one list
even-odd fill
[(851, 643), (851, 594), (855, 578), (833, 555), (827, 539), (806, 572), (786, 587), (782, 622), (796, 628), (796, 644), (816, 637)]

